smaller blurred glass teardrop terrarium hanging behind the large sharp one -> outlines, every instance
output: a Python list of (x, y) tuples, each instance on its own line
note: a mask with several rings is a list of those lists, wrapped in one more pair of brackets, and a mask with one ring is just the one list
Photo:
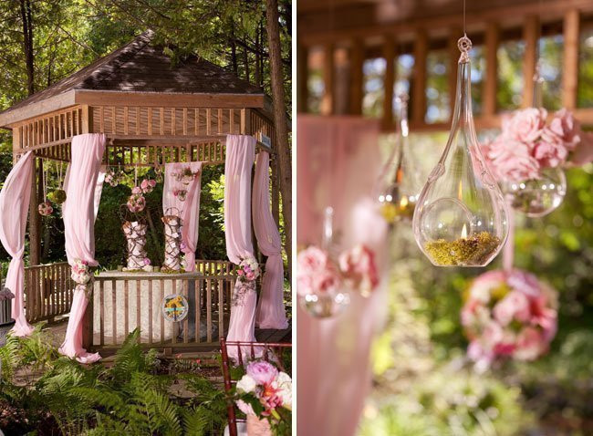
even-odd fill
[(420, 176), (411, 160), (408, 95), (398, 95), (396, 102), (399, 124), (396, 144), (380, 172), (373, 192), (381, 214), (388, 223), (410, 221), (421, 190)]

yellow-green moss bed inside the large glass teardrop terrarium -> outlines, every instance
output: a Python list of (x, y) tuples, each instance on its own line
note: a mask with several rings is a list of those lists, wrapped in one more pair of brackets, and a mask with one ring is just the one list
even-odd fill
[(424, 249), (436, 265), (484, 265), (499, 245), (500, 238), (481, 232), (454, 241), (430, 241)]

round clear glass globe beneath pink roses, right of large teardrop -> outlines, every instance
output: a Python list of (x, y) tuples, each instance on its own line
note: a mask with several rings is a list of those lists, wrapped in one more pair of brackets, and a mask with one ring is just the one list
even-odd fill
[(531, 218), (556, 210), (567, 194), (567, 177), (562, 168), (546, 168), (540, 170), (539, 175), (539, 179), (502, 184), (510, 206)]

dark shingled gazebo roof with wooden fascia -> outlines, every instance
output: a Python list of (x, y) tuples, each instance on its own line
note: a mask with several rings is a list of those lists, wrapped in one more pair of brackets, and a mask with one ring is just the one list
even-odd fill
[(147, 31), (68, 78), (5, 109), (0, 112), (0, 127), (75, 104), (97, 103), (98, 99), (102, 103), (115, 99), (134, 104), (134, 98), (140, 95), (142, 103), (151, 95), (158, 100), (172, 95), (185, 103), (216, 100), (229, 107), (264, 107), (261, 88), (202, 57), (191, 56), (174, 64), (153, 39), (154, 33)]

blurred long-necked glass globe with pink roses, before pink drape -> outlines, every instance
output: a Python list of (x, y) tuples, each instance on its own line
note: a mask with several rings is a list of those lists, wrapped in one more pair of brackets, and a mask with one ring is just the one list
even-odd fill
[(324, 215), (321, 246), (310, 246), (297, 257), (298, 304), (316, 318), (336, 317), (350, 304), (349, 289), (334, 261), (333, 209), (326, 208)]

